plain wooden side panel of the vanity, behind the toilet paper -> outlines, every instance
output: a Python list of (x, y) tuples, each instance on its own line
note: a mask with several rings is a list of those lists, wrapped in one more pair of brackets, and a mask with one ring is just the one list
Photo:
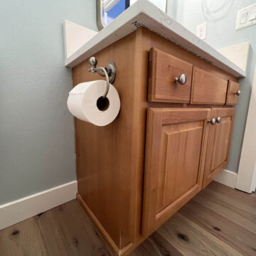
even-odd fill
[[(98, 66), (114, 61), (114, 81), (121, 110), (111, 124), (97, 127), (75, 118), (78, 193), (117, 247), (130, 242), (130, 191), (132, 152), (132, 107), (134, 33), (95, 54)], [(73, 68), (74, 86), (100, 80), (89, 73), (88, 61)]]

